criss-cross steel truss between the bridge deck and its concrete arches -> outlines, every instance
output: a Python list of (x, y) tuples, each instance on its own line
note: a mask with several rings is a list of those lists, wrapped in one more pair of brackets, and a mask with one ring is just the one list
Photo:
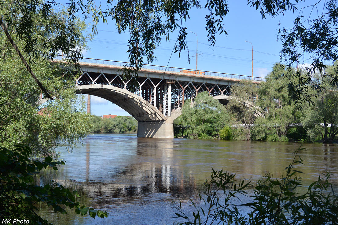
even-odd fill
[[(210, 83), (186, 82), (178, 80), (165, 80), (149, 77), (138, 77), (138, 87), (130, 80), (120, 75), (83, 72), (76, 79), (76, 85), (106, 84), (126, 89), (155, 106), (166, 117), (171, 111), (182, 107), (187, 99), (194, 99), (200, 92), (207, 91), (211, 96), (231, 95), (230, 85)], [(168, 104), (170, 103), (170, 104)]]

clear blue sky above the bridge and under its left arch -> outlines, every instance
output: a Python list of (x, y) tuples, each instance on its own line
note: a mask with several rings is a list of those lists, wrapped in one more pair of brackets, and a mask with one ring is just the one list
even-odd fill
[[(280, 61), (279, 52), (281, 42), (277, 42), (278, 24), (282, 27), (292, 27), (293, 19), (298, 12), (293, 14), (287, 12), (285, 16), (277, 18), (263, 19), (254, 8), (247, 6), (247, 1), (228, 1), (229, 10), (227, 17), (223, 21), (228, 35), (218, 35), (215, 46), (212, 47), (207, 41), (205, 30), (205, 9), (192, 9), (189, 13), (190, 20), (187, 21), (188, 27), (188, 48), (190, 57), (196, 54), (196, 35), (198, 36), (198, 69), (205, 71), (215, 71), (224, 73), (234, 73), (251, 76), (251, 45), (254, 47), (254, 76), (264, 77), (270, 71), (275, 62)], [(307, 1), (307, 5), (314, 1)], [(315, 3), (315, 2), (314, 2)], [(300, 8), (300, 7), (299, 7)], [(91, 27), (88, 27), (90, 32)], [(115, 22), (109, 21), (108, 24), (100, 24), (97, 36), (88, 43), (90, 50), (84, 52), (84, 57), (109, 59), (117, 61), (128, 61), (127, 41), (128, 33), (119, 34), (116, 30)], [(154, 65), (166, 66), (170, 54), (175, 44), (177, 33), (173, 33), (170, 42), (165, 40), (160, 47), (155, 50), (157, 59)], [(173, 53), (169, 65), (187, 69), (196, 68), (196, 58), (188, 60), (188, 51)], [(307, 64), (309, 61), (305, 61)], [(96, 96), (91, 98), (92, 114), (102, 116), (103, 114), (125, 115), (129, 114), (117, 105)]]

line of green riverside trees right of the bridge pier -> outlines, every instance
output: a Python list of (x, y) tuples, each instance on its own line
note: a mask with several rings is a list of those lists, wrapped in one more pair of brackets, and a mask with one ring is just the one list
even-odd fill
[[(336, 64), (335, 64), (336, 65)], [(305, 72), (275, 64), (265, 82), (243, 80), (232, 86), (232, 97), (224, 106), (208, 93), (199, 93), (183, 106), (174, 121), (176, 136), (198, 139), (322, 141), (332, 143), (338, 133), (338, 89), (332, 78), (334, 66), (312, 75), (307, 102), (295, 102), (288, 77)], [(299, 80), (293, 80), (295, 85)], [(259, 111), (263, 116), (257, 115)]]

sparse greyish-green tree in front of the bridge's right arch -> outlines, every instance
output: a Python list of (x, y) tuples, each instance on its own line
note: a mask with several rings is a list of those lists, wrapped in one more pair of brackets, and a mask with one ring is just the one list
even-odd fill
[(259, 87), (251, 80), (242, 80), (232, 86), (231, 99), (227, 108), (235, 115), (234, 138), (239, 140), (251, 140), (256, 117), (258, 116), (257, 101)]

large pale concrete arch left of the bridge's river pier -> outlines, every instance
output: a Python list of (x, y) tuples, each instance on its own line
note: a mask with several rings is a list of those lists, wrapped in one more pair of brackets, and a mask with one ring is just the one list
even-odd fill
[(76, 86), (78, 94), (95, 95), (106, 99), (126, 110), (138, 122), (166, 121), (160, 110), (145, 101), (142, 97), (113, 85), (88, 84)]

